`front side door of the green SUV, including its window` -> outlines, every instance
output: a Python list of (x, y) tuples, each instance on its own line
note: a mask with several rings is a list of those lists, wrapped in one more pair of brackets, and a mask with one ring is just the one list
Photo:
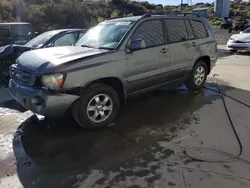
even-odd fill
[(165, 44), (163, 23), (161, 20), (142, 22), (133, 32), (130, 41), (145, 41), (146, 47), (127, 52), (128, 93), (149, 89), (166, 82), (162, 65), (169, 67), (168, 45)]

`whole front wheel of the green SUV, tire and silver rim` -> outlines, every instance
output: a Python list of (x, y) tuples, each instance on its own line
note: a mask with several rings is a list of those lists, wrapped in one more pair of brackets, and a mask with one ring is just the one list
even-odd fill
[[(97, 103), (97, 98), (99, 98), (99, 103)], [(104, 105), (104, 99), (107, 99), (106, 105)], [(82, 128), (95, 129), (111, 124), (119, 108), (120, 99), (112, 87), (93, 84), (86, 88), (80, 99), (73, 104), (72, 113), (74, 120)], [(97, 117), (95, 117), (96, 114), (98, 114)]]

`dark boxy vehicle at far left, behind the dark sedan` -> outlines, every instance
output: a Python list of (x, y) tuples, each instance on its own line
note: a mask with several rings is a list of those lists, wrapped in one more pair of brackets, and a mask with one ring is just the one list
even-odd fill
[(0, 47), (9, 44), (23, 45), (36, 34), (27, 22), (0, 23)]

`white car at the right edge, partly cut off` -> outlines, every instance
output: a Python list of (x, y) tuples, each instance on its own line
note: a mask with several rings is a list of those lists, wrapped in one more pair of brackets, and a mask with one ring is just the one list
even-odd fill
[(238, 50), (250, 50), (250, 27), (239, 34), (231, 36), (227, 42), (227, 48), (231, 52), (237, 52)]

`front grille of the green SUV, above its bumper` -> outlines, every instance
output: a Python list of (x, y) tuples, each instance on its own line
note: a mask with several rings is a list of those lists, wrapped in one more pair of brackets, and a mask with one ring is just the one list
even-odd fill
[(28, 71), (18, 68), (16, 65), (10, 67), (10, 77), (20, 83), (33, 85), (35, 77)]

